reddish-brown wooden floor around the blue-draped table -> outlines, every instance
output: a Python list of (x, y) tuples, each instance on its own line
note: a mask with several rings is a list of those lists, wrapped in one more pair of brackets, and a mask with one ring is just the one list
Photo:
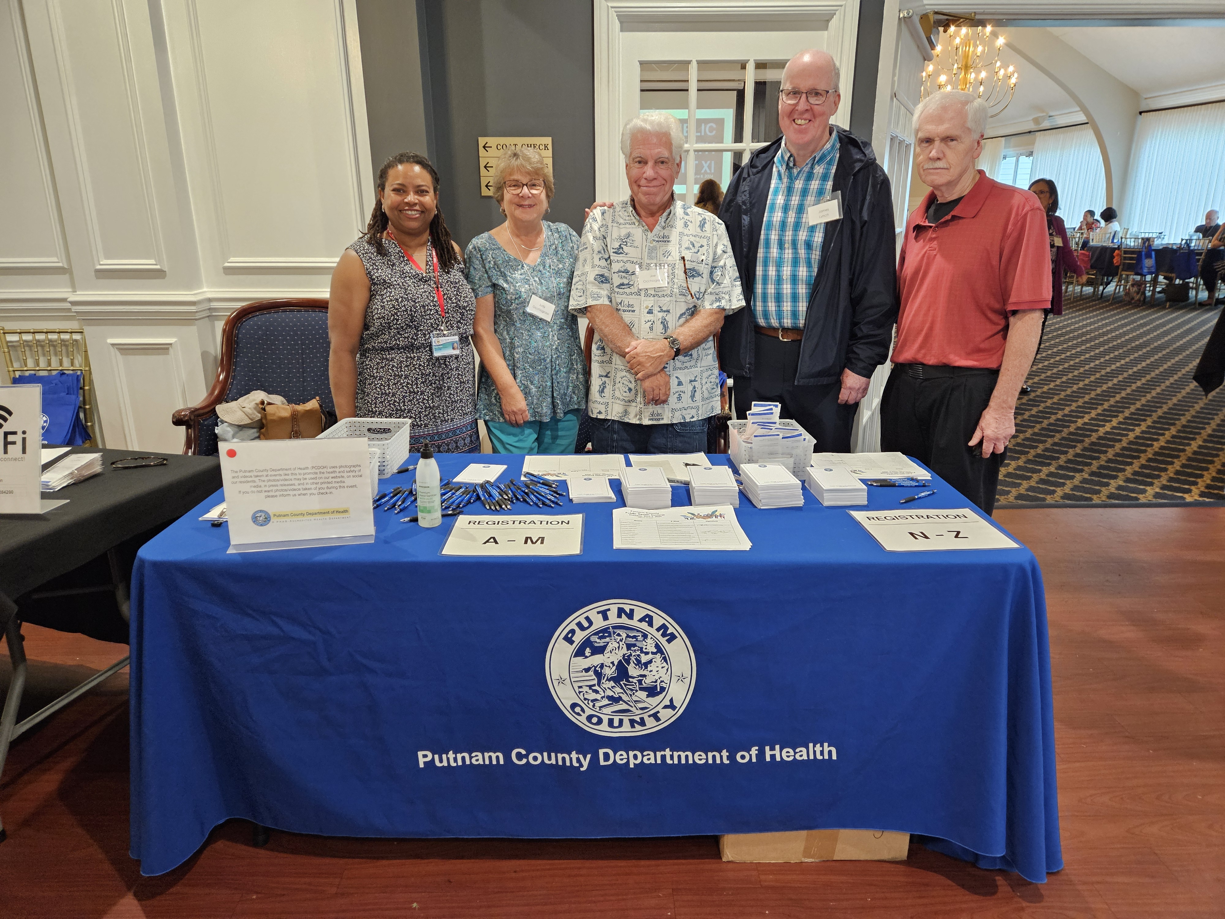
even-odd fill
[[(1225, 917), (1225, 507), (998, 520), (1040, 559), (1050, 607), (1067, 868), (1045, 885), (919, 847), (898, 864), (800, 865), (723, 864), (709, 837), (273, 833), (256, 849), (241, 822), (143, 879), (127, 855), (120, 674), (10, 755), (0, 917)], [(26, 632), (31, 706), (123, 653)]]

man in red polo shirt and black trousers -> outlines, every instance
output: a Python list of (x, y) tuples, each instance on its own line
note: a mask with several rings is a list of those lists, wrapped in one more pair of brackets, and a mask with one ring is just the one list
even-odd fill
[(915, 162), (931, 191), (902, 243), (881, 447), (926, 463), (990, 515), (1051, 305), (1051, 255), (1038, 197), (974, 168), (986, 120), (967, 92), (915, 109)]

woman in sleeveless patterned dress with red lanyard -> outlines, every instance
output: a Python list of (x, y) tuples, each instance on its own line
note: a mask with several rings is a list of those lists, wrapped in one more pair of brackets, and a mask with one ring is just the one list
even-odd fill
[(397, 153), (377, 192), (366, 232), (332, 272), (336, 417), (412, 418), (414, 451), (429, 441), (435, 453), (477, 453), (477, 304), (439, 210), (439, 174), (420, 153)]

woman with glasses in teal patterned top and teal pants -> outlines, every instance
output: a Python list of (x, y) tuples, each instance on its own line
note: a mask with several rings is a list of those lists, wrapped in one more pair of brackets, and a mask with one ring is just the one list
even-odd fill
[(570, 283), (578, 234), (544, 219), (552, 175), (534, 149), (502, 153), (494, 196), (506, 222), (468, 244), (480, 354), (477, 417), (497, 453), (573, 453), (587, 368)]

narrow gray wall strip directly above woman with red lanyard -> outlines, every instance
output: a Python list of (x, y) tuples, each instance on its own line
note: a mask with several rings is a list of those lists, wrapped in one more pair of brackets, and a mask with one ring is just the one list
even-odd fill
[(375, 178), (403, 151), (431, 156), (425, 130), (430, 93), (423, 86), (419, 2), (358, 0), (358, 33)]

